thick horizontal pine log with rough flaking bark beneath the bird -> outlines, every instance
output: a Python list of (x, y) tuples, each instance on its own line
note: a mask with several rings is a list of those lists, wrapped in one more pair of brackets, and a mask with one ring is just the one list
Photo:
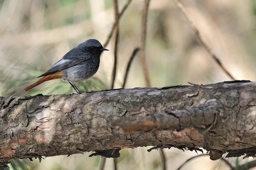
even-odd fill
[(249, 81), (0, 97), (0, 163), (138, 146), (255, 156), (255, 116)]

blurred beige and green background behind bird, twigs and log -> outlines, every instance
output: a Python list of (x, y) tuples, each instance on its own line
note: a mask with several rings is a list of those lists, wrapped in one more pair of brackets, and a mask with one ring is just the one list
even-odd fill
[[(255, 81), (256, 1), (182, 0), (203, 39), (224, 67), (237, 80)], [(119, 12), (126, 0), (119, 0)], [(120, 88), (133, 49), (140, 45), (143, 0), (133, 0), (119, 22), (117, 76)], [(0, 95), (24, 95), (23, 89), (37, 80), (69, 50), (87, 39), (105, 43), (114, 23), (112, 0), (0, 0)], [(151, 0), (148, 13), (146, 62), (153, 87), (210, 84), (232, 80), (220, 69), (197, 40), (191, 25), (170, 0)], [(114, 36), (101, 55), (96, 75), (77, 84), (82, 91), (110, 89), (114, 61)], [(125, 88), (146, 86), (140, 61), (135, 56)], [(68, 94), (73, 88), (61, 80), (51, 80), (26, 92)], [(119, 169), (162, 169), (160, 152), (147, 148), (123, 149), (117, 159)], [(177, 169), (195, 152), (164, 149), (168, 169)], [(55, 156), (25, 161), (28, 169), (98, 169), (101, 157), (90, 153)], [(238, 166), (252, 159), (229, 158)], [(11, 168), (21, 168), (13, 163)], [(113, 159), (105, 169), (113, 169)], [(199, 157), (182, 169), (230, 169), (221, 160)]]

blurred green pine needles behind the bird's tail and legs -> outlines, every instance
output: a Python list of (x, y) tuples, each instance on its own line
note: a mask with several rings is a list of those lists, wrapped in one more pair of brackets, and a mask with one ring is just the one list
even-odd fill
[[(0, 79), (0, 83), (2, 84), (0, 86), (0, 92), (2, 95), (11, 95), (14, 93), (17, 93), (17, 90), (22, 90), (22, 87), (25, 87), (25, 85), (32, 84), (38, 79), (35, 79), (38, 75), (42, 75), (44, 72), (39, 71), (37, 67), (30, 66), (29, 69), (21, 70), (20, 76), (17, 78), (13, 78), (11, 76), (2, 75)], [(52, 84), (51, 81), (55, 81), (57, 83)], [(49, 82), (44, 83), (44, 85), (48, 86), (40, 86), (35, 87), (31, 90), (29, 90), (27, 93), (30, 95), (36, 95), (39, 93), (50, 95), (50, 94), (69, 94), (69, 93), (75, 93), (75, 90), (72, 88), (72, 86), (69, 83), (65, 83), (62, 80), (51, 80)], [(92, 77), (84, 82), (77, 82), (75, 83), (76, 86), (82, 91), (98, 91), (98, 90), (105, 90), (107, 89), (106, 84), (102, 82), (97, 77)]]

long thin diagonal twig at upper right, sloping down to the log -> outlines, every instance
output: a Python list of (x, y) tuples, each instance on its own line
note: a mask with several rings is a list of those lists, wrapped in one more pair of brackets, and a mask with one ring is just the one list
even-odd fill
[(191, 20), (191, 18), (189, 18), (189, 15), (187, 14), (187, 11), (185, 10), (183, 4), (179, 1), (179, 0), (174, 0), (175, 3), (177, 4), (177, 6), (180, 8), (180, 10), (182, 11), (182, 13), (184, 14), (185, 18), (188, 20), (188, 22), (190, 23), (191, 27), (193, 28), (195, 35), (197, 36), (198, 40), (201, 42), (201, 44), (204, 46), (204, 48), (207, 50), (207, 52), (210, 54), (210, 56), (214, 59), (214, 61), (216, 61), (216, 63), (220, 66), (220, 68), (228, 75), (230, 76), (230, 78), (232, 80), (235, 80), (235, 78), (223, 67), (221, 61), (218, 59), (218, 57), (213, 54), (212, 50), (210, 49), (210, 47), (207, 45), (207, 43), (203, 40), (199, 29), (197, 29), (197, 27), (195, 26), (195, 24), (193, 23), (193, 21)]

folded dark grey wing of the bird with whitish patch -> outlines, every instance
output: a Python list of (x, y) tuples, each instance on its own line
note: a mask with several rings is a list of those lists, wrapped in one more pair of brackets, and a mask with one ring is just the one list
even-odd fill
[(57, 63), (53, 64), (53, 66), (51, 66), (49, 68), (49, 70), (46, 71), (46, 73), (44, 73), (44, 74), (42, 74), (41, 76), (38, 76), (38, 77), (43, 77), (43, 76), (46, 76), (46, 75), (50, 75), (50, 74), (53, 74), (57, 71), (61, 71), (61, 70), (67, 69), (69, 67), (76, 66), (78, 64), (81, 64), (81, 63), (85, 62), (86, 60), (88, 60), (88, 58), (72, 57), (72, 58), (66, 58), (65, 59), (63, 57)]

